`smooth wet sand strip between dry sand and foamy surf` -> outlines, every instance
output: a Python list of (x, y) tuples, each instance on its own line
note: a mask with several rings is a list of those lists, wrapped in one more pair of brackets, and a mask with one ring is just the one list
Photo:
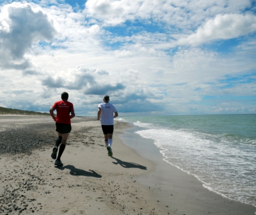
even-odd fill
[[(119, 135), (126, 146), (135, 150), (139, 156), (152, 161), (155, 169), (144, 176), (138, 176), (136, 182), (147, 187), (156, 199), (171, 214), (224, 214), (254, 215), (252, 205), (230, 200), (212, 192), (203, 186), (195, 176), (189, 175), (176, 166), (164, 161), (160, 149), (152, 139), (134, 133), (143, 128), (131, 125), (124, 134)], [(139, 142), (139, 145), (136, 144)]]

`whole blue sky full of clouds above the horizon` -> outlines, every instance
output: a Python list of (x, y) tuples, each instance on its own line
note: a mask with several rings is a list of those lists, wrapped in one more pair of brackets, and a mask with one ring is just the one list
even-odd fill
[(255, 114), (255, 0), (0, 0), (0, 106)]

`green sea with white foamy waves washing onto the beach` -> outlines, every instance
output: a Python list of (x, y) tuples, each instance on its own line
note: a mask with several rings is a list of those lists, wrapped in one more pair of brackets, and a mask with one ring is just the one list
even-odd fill
[[(164, 160), (209, 190), (256, 207), (256, 114), (121, 116)], [(143, 129), (141, 129), (143, 128)]]

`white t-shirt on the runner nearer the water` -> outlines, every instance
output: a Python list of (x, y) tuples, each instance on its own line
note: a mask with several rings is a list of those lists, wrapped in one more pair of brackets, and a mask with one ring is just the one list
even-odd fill
[(98, 106), (101, 109), (100, 112), (100, 123), (104, 126), (114, 125), (114, 112), (116, 112), (116, 108), (114, 105), (110, 103), (101, 103)]

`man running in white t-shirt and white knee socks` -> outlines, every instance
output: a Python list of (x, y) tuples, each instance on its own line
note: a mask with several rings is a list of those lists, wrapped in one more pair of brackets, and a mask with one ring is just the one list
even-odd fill
[(109, 103), (109, 95), (104, 95), (103, 102), (98, 105), (98, 118), (100, 120), (101, 128), (105, 138), (106, 149), (108, 150), (108, 155), (113, 156), (111, 149), (112, 146), (112, 136), (114, 131), (114, 118), (118, 116), (117, 110), (114, 105)]

